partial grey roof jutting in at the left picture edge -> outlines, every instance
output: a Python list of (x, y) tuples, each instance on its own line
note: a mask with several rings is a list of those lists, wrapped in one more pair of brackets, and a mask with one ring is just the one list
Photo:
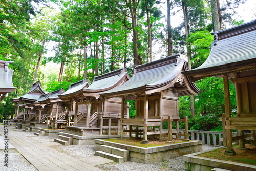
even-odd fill
[(14, 92), (16, 87), (12, 83), (13, 70), (9, 69), (9, 63), (13, 61), (0, 60), (0, 100), (9, 92)]

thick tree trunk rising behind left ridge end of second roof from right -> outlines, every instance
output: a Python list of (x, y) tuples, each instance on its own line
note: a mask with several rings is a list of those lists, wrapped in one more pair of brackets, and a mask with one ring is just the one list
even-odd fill
[(137, 28), (136, 4), (137, 4), (136, 0), (129, 1), (129, 9), (131, 12), (132, 28), (133, 28), (132, 30), (133, 30), (133, 64), (134, 66), (142, 64), (142, 58), (139, 54), (139, 49), (138, 49), (138, 31), (136, 30)]

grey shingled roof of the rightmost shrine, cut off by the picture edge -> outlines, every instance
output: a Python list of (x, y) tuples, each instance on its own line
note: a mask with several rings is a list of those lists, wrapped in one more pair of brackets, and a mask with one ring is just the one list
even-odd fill
[(212, 32), (211, 52), (206, 61), (193, 70), (183, 71), (191, 80), (255, 69), (256, 20), (229, 29)]

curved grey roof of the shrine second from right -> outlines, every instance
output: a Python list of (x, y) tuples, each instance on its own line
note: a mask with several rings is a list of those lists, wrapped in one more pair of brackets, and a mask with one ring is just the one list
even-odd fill
[[(200, 90), (194, 83), (187, 80), (189, 85), (182, 82), (183, 78), (180, 71), (187, 70), (186, 62), (180, 58), (181, 53), (175, 54), (143, 65), (135, 66), (133, 77), (122, 86), (99, 93), (105, 97), (129, 96), (137, 93), (150, 94), (152, 92), (167, 89), (169, 87), (190, 87), (186, 93), (181, 92), (179, 95), (191, 95)], [(153, 91), (151, 91), (153, 90)]]

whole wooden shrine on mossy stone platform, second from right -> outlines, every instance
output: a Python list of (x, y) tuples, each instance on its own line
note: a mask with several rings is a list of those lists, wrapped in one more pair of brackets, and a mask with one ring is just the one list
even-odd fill
[[(181, 53), (168, 56), (153, 62), (136, 66), (133, 77), (122, 86), (100, 93), (105, 99), (113, 97), (122, 98), (121, 138), (124, 132), (135, 133), (139, 136), (143, 127), (142, 143), (148, 143), (148, 136), (155, 135), (162, 139), (163, 134), (168, 134), (168, 140), (172, 141), (173, 135), (179, 138), (179, 131), (172, 132), (172, 121), (176, 122), (179, 129), (181, 120), (178, 112), (179, 96), (195, 95), (200, 90), (193, 82), (181, 74), (187, 70), (187, 65)], [(136, 103), (135, 118), (124, 117), (125, 100), (134, 99)], [(168, 131), (162, 130), (162, 124), (168, 121)], [(129, 129), (124, 130), (124, 126)], [(136, 129), (132, 129), (132, 127)], [(156, 126), (159, 130), (156, 130)], [(151, 129), (152, 127), (152, 129)], [(151, 129), (151, 130), (150, 130)], [(188, 129), (184, 133), (188, 139)]]

